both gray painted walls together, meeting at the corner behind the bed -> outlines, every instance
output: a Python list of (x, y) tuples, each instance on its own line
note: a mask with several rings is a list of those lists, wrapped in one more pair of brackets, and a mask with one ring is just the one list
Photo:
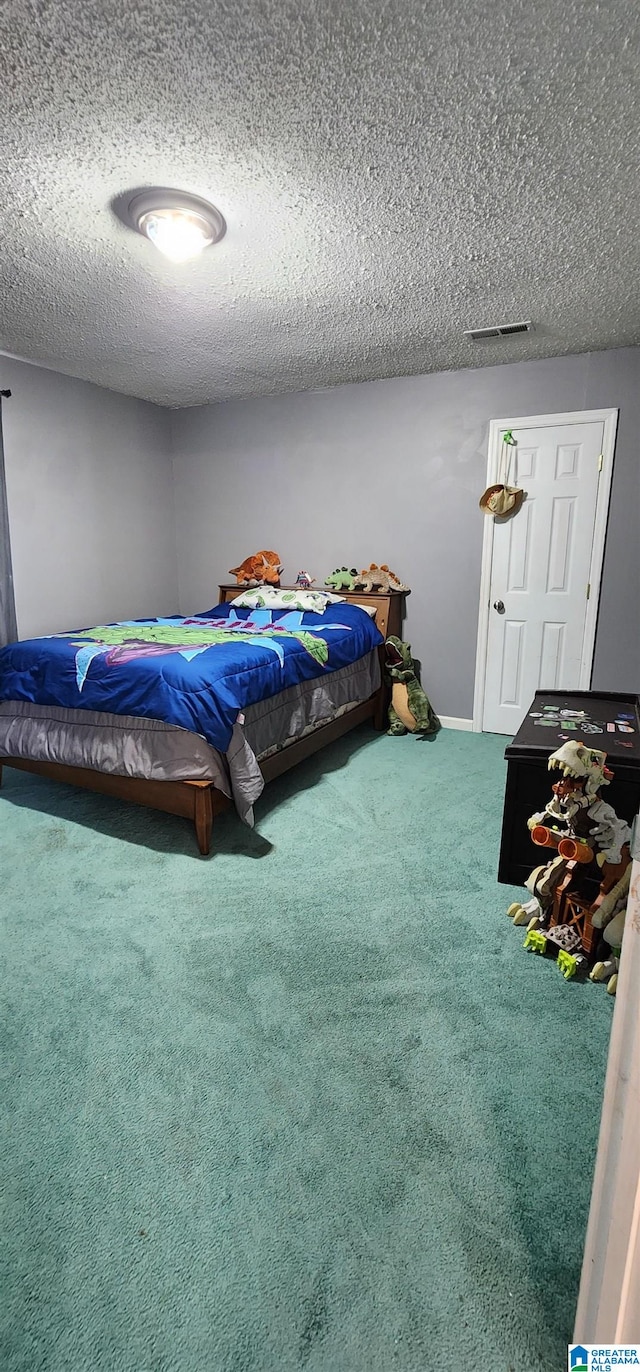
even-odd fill
[(174, 412), (3, 357), (0, 384), (22, 637), (206, 609), (258, 547), (287, 580), (387, 561), (434, 704), (461, 718), (489, 420), (618, 406), (593, 686), (640, 690), (640, 348)]

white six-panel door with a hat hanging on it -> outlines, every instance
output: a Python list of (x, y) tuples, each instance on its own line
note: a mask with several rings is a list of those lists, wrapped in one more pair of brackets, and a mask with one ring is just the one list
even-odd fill
[[(508, 484), (523, 487), (526, 498), (511, 519), (492, 521), (482, 707), (488, 733), (515, 734), (536, 690), (591, 685), (613, 414), (613, 432), (603, 412), (581, 416), (581, 423), (567, 423), (569, 416), (542, 416), (526, 427), (512, 423)], [(493, 435), (494, 457), (507, 427)], [(596, 542), (602, 546), (595, 560)]]

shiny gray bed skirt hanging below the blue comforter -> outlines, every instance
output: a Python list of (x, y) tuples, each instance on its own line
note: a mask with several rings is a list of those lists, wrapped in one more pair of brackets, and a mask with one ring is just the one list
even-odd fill
[(253, 823), (253, 805), (265, 785), (260, 761), (354, 709), (379, 685), (374, 649), (349, 667), (250, 705), (238, 718), (227, 753), (159, 719), (8, 700), (0, 702), (0, 761), (23, 757), (146, 781), (212, 781)]

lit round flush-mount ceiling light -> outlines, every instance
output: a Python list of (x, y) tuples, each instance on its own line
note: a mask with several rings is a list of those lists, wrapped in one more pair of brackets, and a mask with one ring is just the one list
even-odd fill
[(199, 257), (218, 243), (227, 225), (220, 210), (184, 191), (140, 191), (129, 200), (132, 228), (144, 233), (172, 262)]

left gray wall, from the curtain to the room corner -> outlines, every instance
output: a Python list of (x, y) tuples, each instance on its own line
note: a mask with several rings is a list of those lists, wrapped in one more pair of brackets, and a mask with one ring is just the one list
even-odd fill
[(168, 412), (0, 355), (18, 632), (177, 611)]

